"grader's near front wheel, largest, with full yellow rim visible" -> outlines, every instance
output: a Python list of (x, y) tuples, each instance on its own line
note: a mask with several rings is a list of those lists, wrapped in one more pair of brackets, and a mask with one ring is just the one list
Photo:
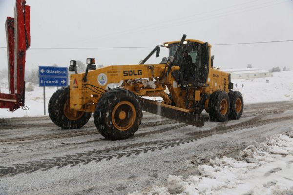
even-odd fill
[(104, 93), (94, 112), (98, 131), (110, 140), (133, 136), (141, 124), (142, 117), (142, 107), (137, 96), (123, 88)]

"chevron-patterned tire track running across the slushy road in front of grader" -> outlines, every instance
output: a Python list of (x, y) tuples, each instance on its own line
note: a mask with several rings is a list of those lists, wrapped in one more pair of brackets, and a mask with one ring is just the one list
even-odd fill
[[(83, 153), (76, 153), (73, 155), (57, 156), (50, 159), (41, 159), (40, 161), (27, 162), (25, 164), (13, 164), (12, 166), (0, 166), (0, 177), (2, 176), (13, 176), (20, 173), (32, 173), (34, 171), (46, 171), (51, 168), (62, 168), (64, 166), (76, 166), (78, 164), (87, 164), (95, 161), (100, 162), (101, 160), (111, 160), (113, 158), (120, 159), (122, 157), (128, 157), (131, 155), (140, 155), (141, 153), (160, 151), (164, 148), (180, 146), (181, 144), (189, 143), (210, 137), (217, 134), (225, 134), (234, 131), (240, 131), (244, 129), (250, 129), (267, 125), (274, 122), (291, 120), (293, 116), (278, 117), (272, 119), (261, 120), (261, 116), (251, 118), (248, 121), (241, 122), (239, 124), (225, 126), (219, 125), (211, 128), (208, 131), (200, 131), (189, 133), (189, 137), (185, 138), (173, 138), (163, 139), (158, 141), (147, 141), (140, 143), (132, 143), (126, 145), (120, 145), (101, 150), (91, 150)], [(180, 128), (180, 127), (177, 127)], [(167, 131), (167, 130), (166, 130)]]

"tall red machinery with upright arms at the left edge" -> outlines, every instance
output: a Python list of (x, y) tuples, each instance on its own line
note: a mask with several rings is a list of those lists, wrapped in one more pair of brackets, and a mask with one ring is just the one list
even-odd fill
[(0, 93), (0, 108), (9, 111), (24, 106), (24, 67), (25, 52), (30, 47), (30, 6), (25, 0), (16, 0), (14, 18), (7, 17), (9, 94)]

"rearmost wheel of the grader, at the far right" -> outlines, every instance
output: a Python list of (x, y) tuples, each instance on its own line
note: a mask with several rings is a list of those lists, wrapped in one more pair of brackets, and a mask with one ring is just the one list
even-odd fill
[(230, 91), (229, 92), (230, 98), (230, 119), (238, 119), (241, 117), (243, 112), (243, 97), (239, 91)]

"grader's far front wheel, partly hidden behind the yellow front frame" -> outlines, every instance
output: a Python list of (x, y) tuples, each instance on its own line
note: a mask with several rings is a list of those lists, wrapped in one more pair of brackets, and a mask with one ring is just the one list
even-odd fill
[(91, 117), (91, 113), (69, 108), (69, 87), (62, 87), (52, 95), (48, 112), (51, 120), (63, 129), (79, 129)]

